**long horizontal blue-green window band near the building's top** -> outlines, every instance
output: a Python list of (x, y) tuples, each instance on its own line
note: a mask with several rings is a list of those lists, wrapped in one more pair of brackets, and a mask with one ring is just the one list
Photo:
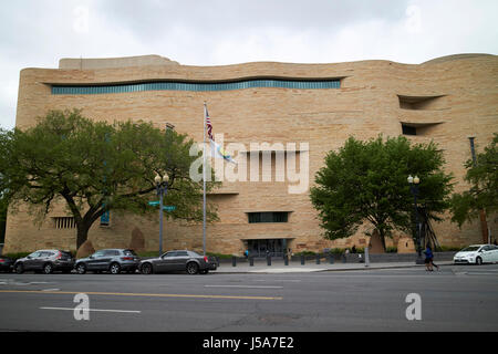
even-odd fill
[(54, 85), (53, 95), (113, 94), (144, 91), (232, 91), (243, 88), (340, 88), (340, 80), (246, 80), (239, 82), (198, 83), (198, 82), (146, 82), (112, 85)]

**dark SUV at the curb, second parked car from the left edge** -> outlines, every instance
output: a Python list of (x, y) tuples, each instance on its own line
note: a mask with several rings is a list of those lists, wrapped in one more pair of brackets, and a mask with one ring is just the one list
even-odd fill
[(18, 259), (13, 268), (19, 274), (27, 270), (42, 271), (45, 274), (54, 271), (69, 273), (74, 268), (74, 259), (69, 251), (39, 250)]

